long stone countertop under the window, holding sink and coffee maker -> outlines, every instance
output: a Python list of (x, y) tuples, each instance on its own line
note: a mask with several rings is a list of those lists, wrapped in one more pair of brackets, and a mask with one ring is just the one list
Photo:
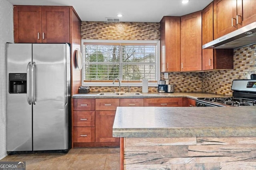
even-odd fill
[(149, 92), (142, 93), (142, 95), (136, 96), (97, 96), (100, 92), (90, 92), (88, 94), (75, 94), (72, 98), (211, 98), (211, 97), (223, 97), (224, 95), (204, 93), (204, 92), (174, 92), (174, 93), (158, 93)]

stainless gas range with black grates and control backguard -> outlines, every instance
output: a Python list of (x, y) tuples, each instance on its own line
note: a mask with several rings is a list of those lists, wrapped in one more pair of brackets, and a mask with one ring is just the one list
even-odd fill
[(233, 80), (232, 97), (197, 98), (197, 107), (256, 106), (256, 80)]

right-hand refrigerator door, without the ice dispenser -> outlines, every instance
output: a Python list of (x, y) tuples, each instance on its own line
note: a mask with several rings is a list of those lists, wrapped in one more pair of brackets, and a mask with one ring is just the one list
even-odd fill
[(67, 44), (32, 45), (33, 150), (68, 149)]

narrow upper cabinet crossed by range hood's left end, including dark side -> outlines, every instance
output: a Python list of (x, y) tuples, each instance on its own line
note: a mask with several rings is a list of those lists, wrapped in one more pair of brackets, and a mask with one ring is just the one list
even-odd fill
[[(213, 40), (213, 3), (202, 11), (202, 44)], [(203, 49), (202, 70), (232, 69), (233, 49)]]

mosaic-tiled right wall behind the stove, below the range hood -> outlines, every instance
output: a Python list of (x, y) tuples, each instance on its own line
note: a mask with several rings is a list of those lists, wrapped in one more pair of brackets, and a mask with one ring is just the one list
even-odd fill
[(232, 96), (232, 80), (256, 73), (256, 44), (234, 50), (234, 69), (202, 73), (202, 91)]

